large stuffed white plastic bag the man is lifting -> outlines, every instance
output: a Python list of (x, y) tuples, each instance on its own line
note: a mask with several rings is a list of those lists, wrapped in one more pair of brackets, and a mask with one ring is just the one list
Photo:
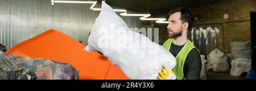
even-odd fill
[[(102, 2), (101, 13), (94, 23), (85, 49), (102, 52), (131, 79), (157, 79), (162, 68), (172, 69), (176, 65), (175, 57), (167, 49), (129, 30), (105, 2)], [(172, 75), (170, 79), (175, 78)]]

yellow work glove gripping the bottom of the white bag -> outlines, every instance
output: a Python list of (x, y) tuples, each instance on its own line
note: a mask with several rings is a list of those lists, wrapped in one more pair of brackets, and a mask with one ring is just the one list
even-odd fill
[(158, 79), (159, 80), (166, 80), (170, 78), (170, 75), (174, 74), (170, 69), (162, 68), (162, 70), (159, 72)]

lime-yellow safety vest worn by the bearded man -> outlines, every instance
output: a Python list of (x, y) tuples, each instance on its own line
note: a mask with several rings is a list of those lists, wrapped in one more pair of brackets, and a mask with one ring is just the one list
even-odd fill
[[(163, 47), (168, 49), (168, 51), (170, 51), (171, 44), (172, 44), (173, 40), (174, 39), (168, 39), (163, 44)], [(184, 74), (183, 74), (184, 63), (185, 63), (185, 60), (186, 60), (186, 58), (188, 56), (188, 53), (193, 48), (196, 48), (196, 47), (193, 45), (193, 43), (190, 40), (188, 40), (188, 42), (183, 46), (183, 48), (181, 48), (180, 52), (177, 54), (177, 56), (176, 56), (177, 64), (174, 67), (174, 69), (172, 69), (172, 71), (176, 75), (177, 80), (185, 80), (185, 77), (184, 77)], [(199, 51), (199, 50), (197, 49), (197, 51)]]

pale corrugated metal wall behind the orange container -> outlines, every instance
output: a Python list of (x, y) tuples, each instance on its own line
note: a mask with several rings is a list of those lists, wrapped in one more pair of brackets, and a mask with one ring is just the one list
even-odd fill
[[(100, 11), (90, 4), (57, 3), (51, 0), (0, 0), (0, 43), (7, 49), (52, 28), (87, 43)], [(97, 5), (100, 7), (100, 5)], [(139, 27), (137, 17), (123, 17), (129, 27)]]

